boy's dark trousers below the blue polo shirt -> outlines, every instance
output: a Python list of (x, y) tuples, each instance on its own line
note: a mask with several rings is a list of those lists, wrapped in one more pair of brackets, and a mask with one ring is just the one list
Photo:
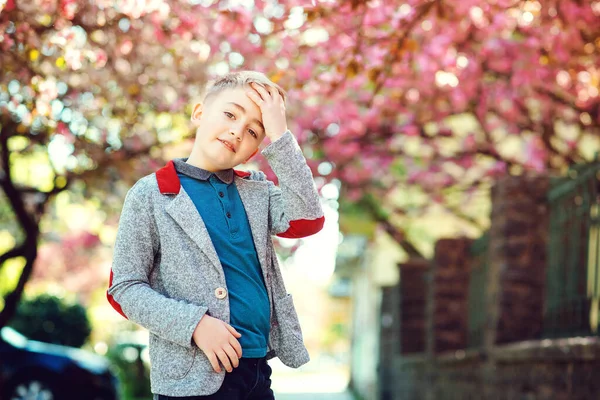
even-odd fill
[(240, 358), (240, 365), (225, 373), (223, 385), (216, 393), (189, 397), (159, 395), (158, 400), (275, 400), (271, 367), (265, 357)]

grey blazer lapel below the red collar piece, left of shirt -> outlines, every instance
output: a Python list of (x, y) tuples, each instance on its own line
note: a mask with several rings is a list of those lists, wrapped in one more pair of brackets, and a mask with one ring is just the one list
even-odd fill
[(223, 266), (215, 250), (206, 225), (200, 217), (194, 202), (183, 187), (179, 194), (165, 207), (167, 213), (179, 224), (181, 229), (206, 254), (220, 275), (224, 275)]

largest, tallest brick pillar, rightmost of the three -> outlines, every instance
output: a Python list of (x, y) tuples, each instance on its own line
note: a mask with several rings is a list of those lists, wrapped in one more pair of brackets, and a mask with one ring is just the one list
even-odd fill
[(507, 176), (492, 188), (488, 349), (542, 332), (548, 184), (543, 176)]

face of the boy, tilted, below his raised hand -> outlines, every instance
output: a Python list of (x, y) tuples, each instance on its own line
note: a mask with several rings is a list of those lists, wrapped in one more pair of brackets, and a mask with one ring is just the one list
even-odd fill
[(225, 89), (197, 104), (192, 121), (203, 168), (220, 171), (246, 162), (265, 138), (260, 108), (247, 95), (249, 86)]

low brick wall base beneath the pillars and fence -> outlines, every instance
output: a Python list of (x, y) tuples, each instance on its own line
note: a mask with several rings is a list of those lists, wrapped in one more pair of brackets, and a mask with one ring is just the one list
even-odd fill
[[(535, 340), (498, 345), (494, 373), (480, 351), (398, 357), (394, 400), (596, 400), (600, 339)], [(434, 373), (431, 373), (433, 369)]]

